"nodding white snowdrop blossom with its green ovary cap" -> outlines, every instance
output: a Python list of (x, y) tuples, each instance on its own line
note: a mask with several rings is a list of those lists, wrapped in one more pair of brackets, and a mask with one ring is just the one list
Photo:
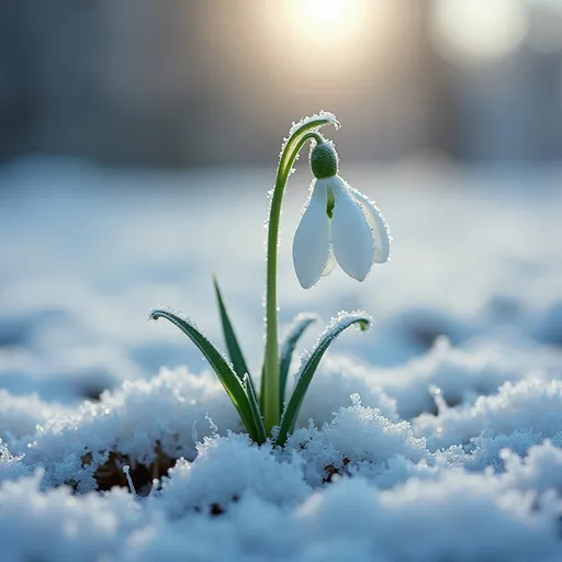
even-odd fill
[(379, 209), (338, 176), (338, 155), (331, 143), (311, 151), (316, 178), (293, 240), (299, 282), (310, 289), (337, 263), (363, 281), (374, 263), (389, 259), (390, 237)]

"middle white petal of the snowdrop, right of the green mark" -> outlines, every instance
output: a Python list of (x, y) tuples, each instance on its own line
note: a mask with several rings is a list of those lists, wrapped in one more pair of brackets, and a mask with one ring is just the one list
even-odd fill
[(335, 205), (331, 217), (331, 243), (341, 269), (353, 279), (363, 281), (374, 259), (371, 228), (361, 205), (355, 201), (339, 177), (331, 178)]

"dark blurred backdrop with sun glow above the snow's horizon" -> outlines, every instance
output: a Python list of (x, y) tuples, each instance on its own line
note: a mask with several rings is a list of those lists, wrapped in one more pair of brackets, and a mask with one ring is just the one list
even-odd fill
[(559, 160), (562, 1), (2, 3), (0, 160), (271, 162), (318, 109), (348, 159)]

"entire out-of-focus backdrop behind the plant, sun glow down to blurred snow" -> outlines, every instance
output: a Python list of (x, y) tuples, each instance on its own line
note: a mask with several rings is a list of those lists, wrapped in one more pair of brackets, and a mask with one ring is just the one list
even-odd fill
[(266, 193), (291, 123), (319, 110), (392, 259), (301, 289), (300, 162), (281, 331), (364, 308), (374, 331), (334, 352), (380, 368), (439, 336), (562, 349), (562, 0), (0, 3), (0, 401), (207, 369), (146, 317), (170, 305), (221, 341), (213, 272), (259, 372)]

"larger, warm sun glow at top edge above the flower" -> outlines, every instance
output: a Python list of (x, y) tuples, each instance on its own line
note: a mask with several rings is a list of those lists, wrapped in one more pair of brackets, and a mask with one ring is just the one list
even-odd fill
[(398, 4), (395, 0), (259, 2), (270, 54), (291, 76), (314, 80), (317, 87), (361, 80), (366, 69), (375, 72), (387, 60), (400, 29)]

